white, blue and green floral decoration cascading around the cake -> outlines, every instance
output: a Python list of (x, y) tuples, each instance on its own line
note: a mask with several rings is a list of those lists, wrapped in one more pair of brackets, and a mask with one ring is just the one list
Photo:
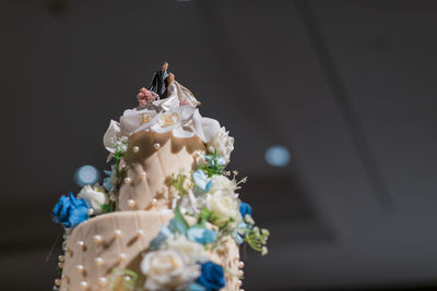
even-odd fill
[[(114, 163), (104, 171), (102, 184), (85, 185), (76, 195), (62, 195), (52, 210), (54, 221), (66, 229), (64, 239), (80, 223), (116, 211), (126, 173), (123, 157), (131, 148), (132, 134), (172, 132), (177, 138), (197, 136), (202, 141), (205, 150), (193, 154), (192, 171), (168, 177), (177, 193), (170, 207), (174, 218), (144, 250), (141, 274), (115, 268), (113, 290), (220, 290), (226, 284), (226, 274), (241, 276), (211, 260), (209, 254), (226, 247), (229, 240), (247, 243), (262, 255), (268, 253), (269, 231), (257, 227), (251, 206), (239, 198), (238, 190), (247, 178), (238, 180), (237, 171), (226, 170), (234, 137), (216, 120), (201, 117), (200, 102), (172, 75), (167, 76), (167, 96), (158, 88), (143, 87), (137, 94), (139, 106), (126, 110), (120, 122), (110, 121), (104, 145), (109, 151), (107, 161), (114, 159)], [(62, 262), (59, 267), (62, 269)]]

